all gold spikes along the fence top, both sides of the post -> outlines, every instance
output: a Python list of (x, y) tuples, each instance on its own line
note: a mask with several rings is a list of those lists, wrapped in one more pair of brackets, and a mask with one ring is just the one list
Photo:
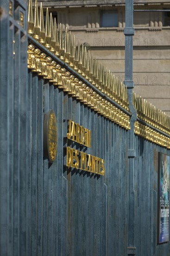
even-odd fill
[[(28, 33), (81, 74), (95, 88), (98, 88), (103, 94), (113, 99), (123, 108), (128, 109), (126, 86), (110, 70), (107, 71), (107, 68), (99, 63), (83, 44), (81, 45), (80, 40), (78, 40), (76, 45), (75, 36), (72, 37), (70, 31), (68, 34), (67, 27), (63, 33), (62, 24), (60, 23), (58, 30), (56, 19), (53, 21), (51, 13), (49, 17), (48, 8), (46, 8), (44, 27), (42, 3), (39, 10), (37, 0), (35, 0), (33, 15), (32, 0), (29, 0)], [(156, 109), (151, 103), (135, 93), (133, 93), (133, 104), (142, 120), (166, 133), (170, 133), (170, 116)]]

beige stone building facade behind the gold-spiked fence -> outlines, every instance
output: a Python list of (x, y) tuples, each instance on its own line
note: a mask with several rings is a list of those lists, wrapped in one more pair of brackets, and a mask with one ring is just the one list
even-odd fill
[[(125, 0), (45, 1), (96, 59), (124, 81)], [(169, 0), (134, 0), (134, 9), (170, 9)], [(134, 91), (170, 115), (170, 12), (134, 12)]]

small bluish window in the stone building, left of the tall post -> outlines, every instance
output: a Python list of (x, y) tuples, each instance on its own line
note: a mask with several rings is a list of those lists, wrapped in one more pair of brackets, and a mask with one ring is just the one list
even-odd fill
[(118, 11), (101, 11), (101, 27), (118, 27)]

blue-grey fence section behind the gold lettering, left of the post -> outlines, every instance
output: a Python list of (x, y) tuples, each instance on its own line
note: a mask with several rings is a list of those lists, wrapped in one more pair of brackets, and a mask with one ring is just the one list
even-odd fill
[[(31, 72), (29, 78), (35, 102), (38, 94), (37, 106), (32, 108), (34, 113), (42, 106), (43, 85)], [(127, 196), (127, 131), (60, 89), (44, 83), (45, 112), (50, 108), (55, 110), (58, 128), (57, 159), (51, 166), (40, 157), (43, 123), (38, 121), (34, 128), (32, 126), (32, 147), (38, 157), (31, 158), (30, 179), (34, 193), (28, 209), (31, 224), (36, 228), (28, 237), (30, 254), (41, 255), (45, 251), (45, 255), (111, 255), (114, 250), (126, 255), (127, 236), (123, 229), (127, 224), (127, 209), (123, 202)], [(69, 119), (91, 130), (91, 148), (67, 141)], [(67, 171), (63, 166), (66, 145), (104, 158), (105, 176), (74, 169)], [(123, 193), (120, 193), (121, 188), (124, 188)], [(124, 241), (123, 246), (119, 246), (120, 240)]]

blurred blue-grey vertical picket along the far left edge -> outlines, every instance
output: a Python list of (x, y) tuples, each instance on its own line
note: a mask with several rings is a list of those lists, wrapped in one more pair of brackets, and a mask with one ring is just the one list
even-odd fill
[[(7, 1), (4, 1), (4, 3), (7, 4)], [(0, 188), (3, 190), (3, 194), (0, 197), (0, 225), (3, 227), (1, 235), (0, 235), (0, 254), (5, 255), (9, 254), (11, 250), (11, 246), (4, 247), (3, 245), (7, 243), (7, 245), (10, 245), (12, 237), (9, 236), (8, 230), (8, 224), (12, 220), (12, 215), (8, 216), (8, 211), (11, 209), (9, 203), (10, 203), (10, 197), (7, 193), (9, 189), (9, 185), (11, 185), (10, 182), (10, 162), (9, 162), (9, 149), (11, 146), (9, 138), (9, 118), (7, 118), (7, 115), (9, 113), (9, 62), (11, 60), (11, 56), (8, 55), (9, 51), (9, 17), (6, 13), (9, 12), (8, 5), (6, 7), (3, 7), (2, 9), (3, 13), (1, 13), (0, 17), (0, 40), (2, 43), (2, 46), (0, 47), (0, 114), (1, 114), (1, 120), (0, 120)], [(6, 40), (6, 41), (5, 41)], [(6, 58), (7, 56), (7, 58)], [(5, 101), (2, 101), (2, 99), (5, 99)], [(5, 170), (5, 172), (4, 172)], [(12, 200), (11, 200), (12, 201)]]

